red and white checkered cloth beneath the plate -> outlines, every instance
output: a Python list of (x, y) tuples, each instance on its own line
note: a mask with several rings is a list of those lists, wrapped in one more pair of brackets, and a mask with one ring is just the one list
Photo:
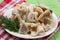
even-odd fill
[[(16, 4), (21, 4), (22, 2), (25, 2), (25, 0), (4, 0), (2, 3), (0, 3), (0, 16), (2, 16), (7, 10), (15, 6)], [(60, 27), (60, 22), (58, 23), (57, 29)], [(57, 30), (56, 30), (57, 31)], [(55, 32), (54, 32), (55, 33)], [(54, 33), (40, 39), (34, 39), (34, 40), (48, 40)], [(2, 26), (0, 25), (0, 40), (28, 40), (23, 38), (17, 38), (15, 36), (10, 35), (7, 33)], [(33, 39), (29, 39), (33, 40)]]

